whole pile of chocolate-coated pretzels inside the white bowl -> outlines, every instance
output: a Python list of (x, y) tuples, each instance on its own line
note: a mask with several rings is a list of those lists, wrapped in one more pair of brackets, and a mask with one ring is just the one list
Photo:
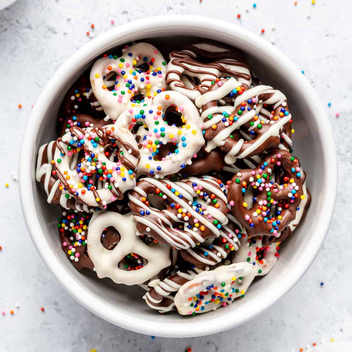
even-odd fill
[[(77, 270), (145, 289), (160, 313), (244, 297), (310, 203), (285, 95), (201, 41), (103, 55), (64, 97), (36, 178)], [(142, 299), (142, 297), (141, 297)]]

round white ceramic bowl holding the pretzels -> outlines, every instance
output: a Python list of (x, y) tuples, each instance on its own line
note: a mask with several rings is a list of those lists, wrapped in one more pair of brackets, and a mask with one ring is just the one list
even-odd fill
[[(58, 210), (48, 206), (34, 177), (40, 145), (55, 139), (54, 125), (61, 100), (70, 85), (98, 55), (132, 40), (147, 39), (161, 51), (184, 45), (194, 37), (215, 39), (249, 54), (252, 68), (265, 84), (287, 96), (296, 133), (294, 152), (307, 170), (312, 194), (308, 215), (287, 240), (275, 268), (255, 281), (246, 297), (215, 312), (185, 317), (161, 315), (142, 300), (142, 289), (115, 285), (108, 279), (77, 272), (61, 250)], [(164, 41), (161, 39), (164, 38)], [(165, 40), (166, 39), (166, 40)], [(29, 175), (31, 182), (28, 182)], [(62, 286), (84, 307), (116, 325), (149, 335), (191, 337), (212, 334), (253, 318), (281, 298), (313, 262), (328, 230), (337, 192), (337, 156), (328, 119), (309, 82), (274, 46), (241, 27), (205, 17), (172, 15), (121, 25), (84, 45), (52, 76), (34, 105), (24, 133), (19, 165), (20, 196), (32, 240)], [(93, 273), (92, 273), (93, 274)], [(260, 305), (251, 304), (260, 300)]]

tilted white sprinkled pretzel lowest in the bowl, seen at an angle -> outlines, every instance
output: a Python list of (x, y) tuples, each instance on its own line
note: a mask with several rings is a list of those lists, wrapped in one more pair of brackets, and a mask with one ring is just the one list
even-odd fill
[[(222, 265), (211, 271), (203, 271), (182, 285), (175, 296), (175, 306), (182, 315), (206, 313), (226, 306), (245, 294), (255, 276), (256, 269), (249, 263)], [(213, 301), (212, 295), (216, 296)], [(200, 302), (197, 304), (197, 301)]]

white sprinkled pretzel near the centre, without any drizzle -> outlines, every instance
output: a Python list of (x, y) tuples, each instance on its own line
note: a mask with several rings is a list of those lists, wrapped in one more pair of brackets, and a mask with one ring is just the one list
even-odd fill
[[(140, 150), (138, 174), (154, 174), (156, 178), (164, 177), (180, 171), (182, 165), (191, 164), (192, 157), (205, 143), (201, 130), (202, 121), (194, 104), (178, 92), (159, 93), (152, 101), (148, 100), (146, 103), (146, 106), (141, 104), (123, 112), (115, 124), (129, 127), (137, 122), (143, 123), (144, 129), (138, 129), (138, 135), (141, 136), (139, 142), (143, 144)], [(170, 105), (176, 105), (178, 111), (182, 113), (182, 127), (170, 126), (163, 120), (163, 114)], [(144, 113), (141, 114), (141, 110)], [(161, 161), (157, 161), (155, 156), (159, 148), (168, 143), (176, 144), (178, 152), (175, 151), (163, 157)]]

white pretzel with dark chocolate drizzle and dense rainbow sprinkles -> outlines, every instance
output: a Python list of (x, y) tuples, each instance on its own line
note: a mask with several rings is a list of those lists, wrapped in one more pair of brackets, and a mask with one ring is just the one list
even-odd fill
[[(105, 155), (108, 145), (119, 147), (118, 162)], [(84, 157), (76, 168), (70, 168), (71, 159), (81, 149)], [(127, 128), (107, 125), (82, 130), (75, 126), (57, 139), (51, 164), (55, 165), (63, 188), (69, 192), (65, 197), (73, 196), (78, 203), (104, 208), (108, 203), (122, 199), (123, 193), (136, 185), (138, 160), (136, 140)], [(101, 177), (104, 187), (96, 189), (90, 183), (92, 174)]]

